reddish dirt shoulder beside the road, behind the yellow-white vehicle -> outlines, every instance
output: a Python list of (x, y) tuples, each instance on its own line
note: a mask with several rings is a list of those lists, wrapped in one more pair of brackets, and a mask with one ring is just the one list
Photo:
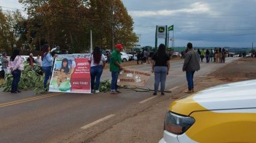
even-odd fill
[[(195, 89), (200, 91), (215, 85), (251, 79), (256, 79), (256, 58), (241, 58), (207, 77), (196, 78)], [(163, 136), (165, 111), (174, 99), (188, 96), (184, 89), (185, 86), (173, 91), (172, 98), (154, 104), (86, 142), (158, 142)]]

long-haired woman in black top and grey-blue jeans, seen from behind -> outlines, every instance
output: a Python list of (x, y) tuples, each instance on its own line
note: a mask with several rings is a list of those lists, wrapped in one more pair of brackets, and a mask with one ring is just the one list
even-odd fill
[(157, 95), (159, 83), (161, 83), (161, 86), (160, 86), (161, 95), (164, 95), (165, 80), (170, 70), (170, 57), (166, 53), (165, 49), (166, 49), (165, 45), (160, 44), (157, 52), (153, 55), (153, 58), (152, 58), (151, 72), (152, 73), (154, 72), (155, 74), (155, 84), (154, 84), (153, 95)]

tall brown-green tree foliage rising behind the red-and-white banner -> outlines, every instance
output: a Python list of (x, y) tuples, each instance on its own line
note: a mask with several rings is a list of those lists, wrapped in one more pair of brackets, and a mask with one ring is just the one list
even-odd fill
[[(45, 42), (72, 52), (89, 50), (90, 30), (93, 45), (111, 48), (114, 41), (131, 48), (135, 43), (133, 21), (121, 0), (19, 0), (27, 11), (19, 34), (26, 34), (29, 46), (39, 49)], [(113, 9), (113, 11), (112, 11)], [(111, 14), (113, 13), (113, 21)], [(26, 32), (22, 31), (26, 29)], [(22, 37), (24, 38), (24, 37)], [(25, 39), (24, 39), (25, 40)]]

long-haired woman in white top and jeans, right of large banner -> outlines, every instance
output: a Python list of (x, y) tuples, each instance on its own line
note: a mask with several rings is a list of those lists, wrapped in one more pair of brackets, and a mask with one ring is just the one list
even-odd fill
[[(89, 63), (91, 63), (91, 91), (99, 93), (99, 83), (101, 80), (102, 71), (106, 65), (106, 58), (101, 53), (100, 47), (94, 47), (94, 50), (89, 57)], [(94, 81), (96, 78), (96, 88), (94, 90)]]

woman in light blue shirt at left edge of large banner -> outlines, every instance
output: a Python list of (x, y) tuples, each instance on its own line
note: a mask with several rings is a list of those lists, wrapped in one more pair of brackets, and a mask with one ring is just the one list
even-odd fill
[(44, 70), (44, 90), (46, 90), (46, 85), (49, 80), (49, 76), (51, 75), (53, 58), (57, 57), (57, 54), (52, 57), (50, 54), (51, 48), (48, 44), (44, 44), (42, 46), (42, 70)]

